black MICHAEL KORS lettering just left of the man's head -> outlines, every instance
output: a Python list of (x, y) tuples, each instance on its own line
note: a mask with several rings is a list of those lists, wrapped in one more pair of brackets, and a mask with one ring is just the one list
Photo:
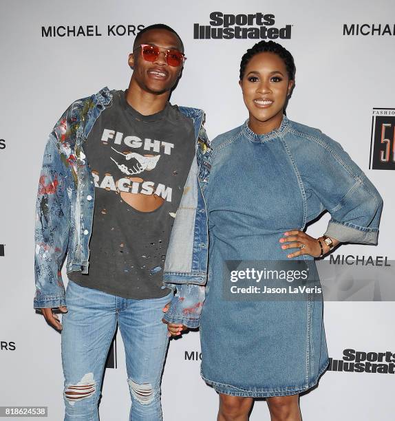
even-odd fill
[(145, 25), (107, 25), (101, 30), (98, 25), (49, 25), (41, 26), (41, 38), (55, 36), (136, 36)]

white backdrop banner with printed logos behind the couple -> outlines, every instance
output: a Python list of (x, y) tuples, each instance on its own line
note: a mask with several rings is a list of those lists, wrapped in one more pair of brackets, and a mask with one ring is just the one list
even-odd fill
[[(34, 206), (48, 133), (73, 100), (104, 86), (126, 89), (136, 34), (166, 23), (182, 37), (188, 58), (171, 102), (204, 109), (210, 138), (246, 119), (239, 62), (248, 47), (273, 39), (297, 66), (288, 118), (340, 142), (381, 193), (378, 245), (343, 245), (325, 259), (339, 273), (370, 268), (374, 281), (364, 284), (363, 299), (353, 299), (351, 288), (325, 302), (330, 367), (319, 387), (301, 396), (301, 410), (306, 421), (393, 420), (395, 303), (380, 280), (395, 259), (394, 16), (392, 0), (2, 1), (0, 407), (45, 406), (47, 419), (63, 419), (61, 335), (32, 307)], [(323, 215), (308, 233), (318, 237), (329, 219)], [(351, 282), (358, 290), (358, 277)], [(253, 327), (246, 331), (254, 334)], [(171, 341), (164, 420), (216, 419), (217, 394), (200, 378), (200, 358), (197, 332)], [(100, 419), (127, 420), (129, 404), (118, 334)], [(264, 400), (255, 402), (250, 420), (270, 420)]]

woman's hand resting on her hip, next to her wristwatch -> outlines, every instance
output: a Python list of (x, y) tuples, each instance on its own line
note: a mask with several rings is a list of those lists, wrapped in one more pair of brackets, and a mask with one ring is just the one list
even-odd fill
[[(284, 237), (279, 239), (282, 243), (281, 248), (288, 250), (288, 248), (297, 248), (298, 250), (287, 255), (288, 258), (297, 257), (301, 255), (310, 255), (312, 257), (321, 256), (321, 246), (319, 240), (310, 237), (310, 235), (303, 233), (301, 230), (289, 230), (284, 233)], [(323, 252), (328, 252), (329, 247), (321, 241)]]

